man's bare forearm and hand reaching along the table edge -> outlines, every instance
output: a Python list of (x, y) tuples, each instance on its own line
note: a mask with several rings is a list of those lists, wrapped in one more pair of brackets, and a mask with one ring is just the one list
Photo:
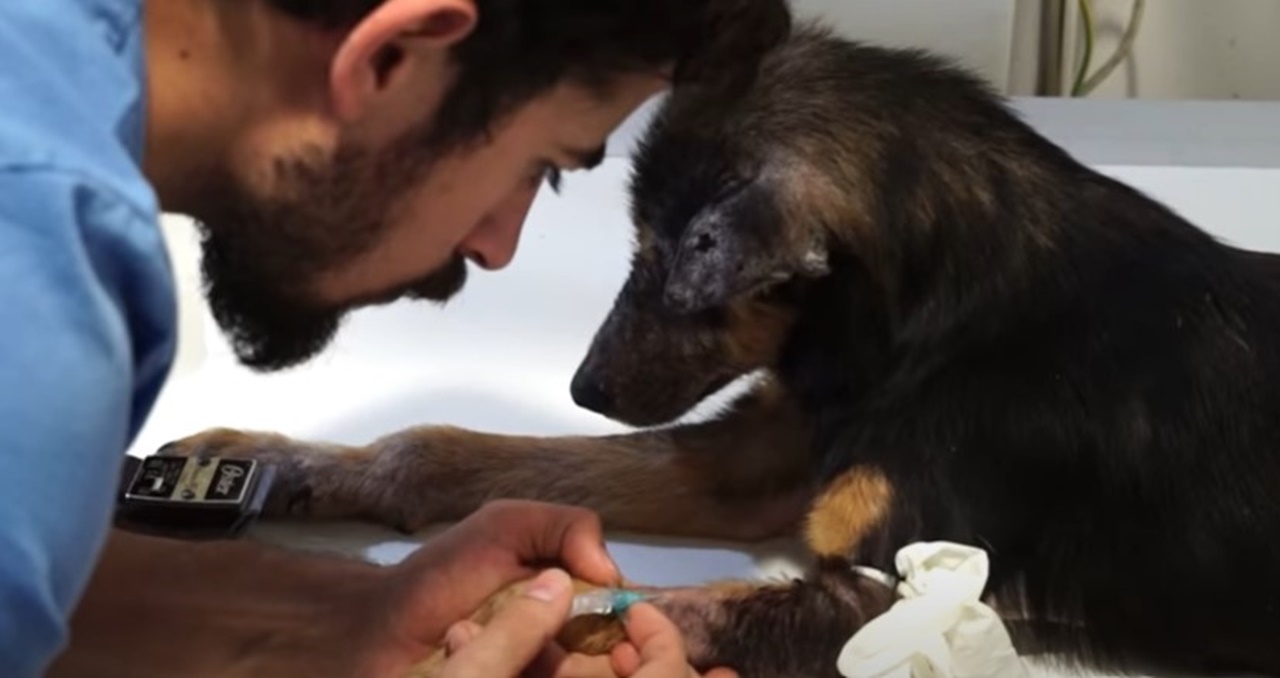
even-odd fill
[[(529, 501), (490, 504), (393, 567), (250, 540), (187, 542), (114, 531), (76, 610), (70, 646), (47, 675), (401, 678), (438, 650), (452, 626), (547, 565), (602, 586), (621, 583), (603, 544), (593, 513)], [(564, 573), (550, 577), (557, 585)], [(559, 666), (617, 674), (609, 658), (564, 656), (550, 642), (567, 619), (571, 590), (536, 591), (486, 629), (479, 647), (503, 652), (488, 659), (549, 666), (552, 674)], [(663, 659), (678, 652), (672, 635), (673, 627), (649, 640), (636, 635), (634, 656), (646, 666), (681, 664)], [(657, 645), (660, 652), (645, 650), (660, 638), (668, 638)], [(475, 656), (449, 670), (476, 674), (467, 659)], [(630, 672), (631, 664), (621, 668)]]

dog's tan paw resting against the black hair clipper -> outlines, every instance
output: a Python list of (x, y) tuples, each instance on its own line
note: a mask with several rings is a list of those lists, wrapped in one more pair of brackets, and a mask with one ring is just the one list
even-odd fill
[[(323, 476), (344, 464), (337, 450), (325, 450), (291, 438), (233, 429), (210, 429), (163, 445), (160, 457), (253, 459), (275, 468), (275, 480), (262, 507), (265, 518), (310, 518), (328, 513), (317, 507)], [(340, 473), (340, 471), (339, 471)], [(317, 510), (320, 509), (320, 510)]]

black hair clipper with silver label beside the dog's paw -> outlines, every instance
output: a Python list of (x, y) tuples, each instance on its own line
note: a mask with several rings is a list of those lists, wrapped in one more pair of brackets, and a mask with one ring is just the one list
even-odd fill
[(262, 512), (275, 469), (253, 459), (125, 457), (115, 526), (174, 539), (233, 539)]

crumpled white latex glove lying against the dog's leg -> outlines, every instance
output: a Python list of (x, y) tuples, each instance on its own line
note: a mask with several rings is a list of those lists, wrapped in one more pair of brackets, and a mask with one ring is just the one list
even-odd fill
[(986, 551), (945, 541), (897, 551), (893, 604), (845, 645), (845, 678), (1027, 678), (1005, 624), (982, 603)]

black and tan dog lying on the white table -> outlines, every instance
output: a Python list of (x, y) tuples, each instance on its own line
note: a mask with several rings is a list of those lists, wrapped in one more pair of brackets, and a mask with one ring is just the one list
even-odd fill
[(700, 663), (750, 677), (835, 675), (891, 603), (849, 564), (918, 540), (987, 549), (1037, 649), (1280, 674), (1280, 260), (1082, 166), (936, 58), (813, 27), (742, 99), (677, 91), (631, 189), (634, 267), (573, 397), (658, 425), (763, 371), (721, 416), (166, 452), (283, 464), (279, 516), (412, 530), (527, 498), (627, 531), (799, 527), (805, 581), (668, 605)]

